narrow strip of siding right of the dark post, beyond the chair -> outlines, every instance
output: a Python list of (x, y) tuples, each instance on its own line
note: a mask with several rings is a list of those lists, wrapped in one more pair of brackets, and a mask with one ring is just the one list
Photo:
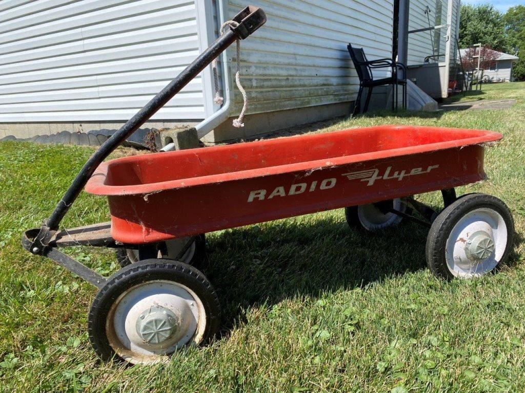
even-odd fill
[[(425, 9), (427, 6), (430, 8), (430, 26), (445, 25), (447, 23), (447, 0), (411, 0), (408, 30), (429, 27), (428, 16), (425, 15)], [(407, 65), (423, 64), (425, 57), (432, 54), (445, 54), (447, 43), (446, 35), (446, 28), (409, 34)], [(438, 59), (439, 62), (445, 61), (444, 56), (439, 57)], [(430, 62), (436, 61), (430, 59)]]

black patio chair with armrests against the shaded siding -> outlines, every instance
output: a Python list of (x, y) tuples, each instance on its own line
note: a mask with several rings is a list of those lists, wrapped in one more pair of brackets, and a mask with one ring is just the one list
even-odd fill
[[(392, 59), (377, 59), (369, 61), (366, 59), (363, 48), (353, 48), (352, 44), (348, 44), (348, 51), (350, 57), (354, 63), (355, 70), (358, 72), (359, 77), (359, 92), (358, 98), (355, 101), (353, 114), (356, 115), (361, 112), (361, 97), (363, 95), (364, 88), (368, 88), (368, 95), (366, 96), (366, 102), (364, 104), (363, 113), (368, 110), (370, 105), (370, 98), (372, 97), (372, 90), (377, 86), (393, 86), (392, 94), (392, 110), (395, 111), (397, 108), (397, 89), (398, 85), (402, 85), (403, 88), (403, 108), (406, 108), (406, 67), (403, 63), (396, 63)], [(372, 70), (379, 68), (390, 68), (392, 74), (388, 78), (374, 79)], [(400, 78), (397, 70), (402, 69), (403, 75)]]

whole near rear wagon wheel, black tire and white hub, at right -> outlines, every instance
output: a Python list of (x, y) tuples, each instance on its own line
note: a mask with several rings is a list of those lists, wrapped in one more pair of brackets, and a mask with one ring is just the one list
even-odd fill
[(458, 198), (430, 227), (426, 259), (439, 278), (480, 277), (497, 271), (513, 246), (514, 223), (509, 208), (492, 195)]

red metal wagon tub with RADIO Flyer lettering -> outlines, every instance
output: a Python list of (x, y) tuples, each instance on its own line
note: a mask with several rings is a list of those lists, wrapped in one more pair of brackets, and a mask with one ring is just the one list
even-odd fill
[(142, 244), (485, 179), (495, 132), (378, 126), (104, 162), (111, 235)]

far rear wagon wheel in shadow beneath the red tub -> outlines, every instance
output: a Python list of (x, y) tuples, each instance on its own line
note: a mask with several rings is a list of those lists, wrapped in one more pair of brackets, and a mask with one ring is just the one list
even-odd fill
[(403, 220), (403, 217), (387, 212), (392, 208), (402, 213), (407, 213), (409, 209), (402, 198), (396, 198), (367, 205), (350, 206), (344, 209), (344, 213), (350, 227), (375, 232), (397, 225)]

